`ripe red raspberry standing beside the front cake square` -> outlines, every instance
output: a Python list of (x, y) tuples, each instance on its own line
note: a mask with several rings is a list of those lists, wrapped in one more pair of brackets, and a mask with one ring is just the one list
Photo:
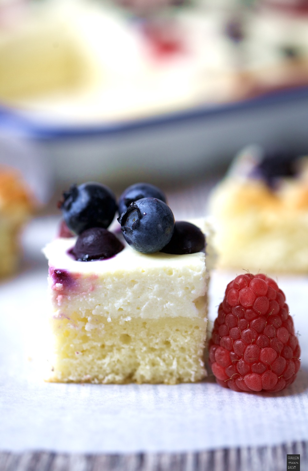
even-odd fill
[(216, 381), (234, 391), (280, 391), (295, 380), (299, 357), (293, 319), (276, 282), (262, 274), (232, 280), (209, 342)]

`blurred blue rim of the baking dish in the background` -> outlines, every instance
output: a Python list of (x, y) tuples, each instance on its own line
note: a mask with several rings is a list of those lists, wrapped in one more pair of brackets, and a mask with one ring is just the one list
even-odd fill
[(122, 134), (134, 130), (154, 129), (160, 126), (185, 123), (198, 120), (211, 120), (246, 110), (257, 110), (267, 106), (281, 105), (308, 98), (308, 86), (277, 90), (228, 104), (197, 106), (182, 111), (157, 114), (150, 117), (117, 122), (99, 122), (98, 124), (76, 125), (70, 123), (49, 123), (34, 117), (25, 110), (18, 110), (0, 104), (0, 131), (11, 131), (26, 137), (54, 140), (65, 138), (84, 138)]

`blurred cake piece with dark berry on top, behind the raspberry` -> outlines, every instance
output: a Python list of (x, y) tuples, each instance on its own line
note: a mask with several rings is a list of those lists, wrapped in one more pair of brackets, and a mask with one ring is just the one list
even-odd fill
[(245, 148), (214, 188), (210, 212), (221, 268), (308, 272), (308, 158)]

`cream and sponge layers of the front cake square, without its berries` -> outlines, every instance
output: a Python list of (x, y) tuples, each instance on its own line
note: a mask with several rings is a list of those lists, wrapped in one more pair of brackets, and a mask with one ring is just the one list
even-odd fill
[[(123, 241), (124, 242), (124, 241)], [(55, 382), (174, 384), (205, 377), (209, 272), (205, 253), (74, 260), (75, 239), (45, 248), (49, 259)]]

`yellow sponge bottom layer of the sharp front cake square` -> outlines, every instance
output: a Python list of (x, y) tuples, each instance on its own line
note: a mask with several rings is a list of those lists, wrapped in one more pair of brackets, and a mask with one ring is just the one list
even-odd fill
[(206, 320), (107, 317), (73, 312), (55, 318), (53, 374), (50, 381), (193, 382), (205, 376), (203, 355)]

